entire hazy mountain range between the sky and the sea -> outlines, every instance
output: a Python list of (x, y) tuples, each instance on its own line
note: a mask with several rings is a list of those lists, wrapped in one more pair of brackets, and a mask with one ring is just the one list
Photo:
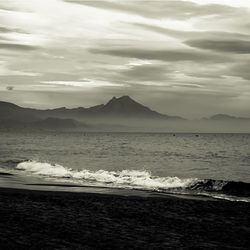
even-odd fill
[(89, 108), (39, 110), (0, 102), (0, 129), (249, 133), (250, 118), (216, 114), (185, 120), (158, 113), (129, 96)]

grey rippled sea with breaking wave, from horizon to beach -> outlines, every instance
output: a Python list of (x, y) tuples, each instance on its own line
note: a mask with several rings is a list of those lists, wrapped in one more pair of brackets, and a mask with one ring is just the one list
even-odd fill
[(249, 202), (250, 134), (0, 132), (0, 186), (88, 186)]

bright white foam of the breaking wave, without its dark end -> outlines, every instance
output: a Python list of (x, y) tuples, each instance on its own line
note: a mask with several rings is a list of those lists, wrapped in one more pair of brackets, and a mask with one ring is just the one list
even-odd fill
[(18, 170), (50, 178), (69, 178), (71, 181), (87, 181), (100, 183), (105, 186), (139, 188), (145, 190), (168, 190), (173, 188), (185, 188), (191, 185), (196, 179), (178, 177), (155, 177), (144, 170), (122, 170), (122, 171), (90, 171), (73, 170), (59, 164), (26, 161), (19, 163)]

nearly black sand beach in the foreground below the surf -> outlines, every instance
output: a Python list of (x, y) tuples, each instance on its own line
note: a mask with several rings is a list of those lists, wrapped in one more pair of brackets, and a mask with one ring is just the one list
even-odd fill
[(250, 203), (0, 189), (0, 249), (250, 249)]

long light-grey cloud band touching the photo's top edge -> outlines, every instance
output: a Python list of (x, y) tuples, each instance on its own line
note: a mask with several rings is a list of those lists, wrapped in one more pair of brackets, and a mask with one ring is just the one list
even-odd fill
[(133, 13), (147, 18), (189, 19), (197, 16), (225, 15), (235, 8), (222, 4), (200, 5), (191, 1), (86, 1), (66, 0), (70, 3), (92, 6), (111, 11)]

